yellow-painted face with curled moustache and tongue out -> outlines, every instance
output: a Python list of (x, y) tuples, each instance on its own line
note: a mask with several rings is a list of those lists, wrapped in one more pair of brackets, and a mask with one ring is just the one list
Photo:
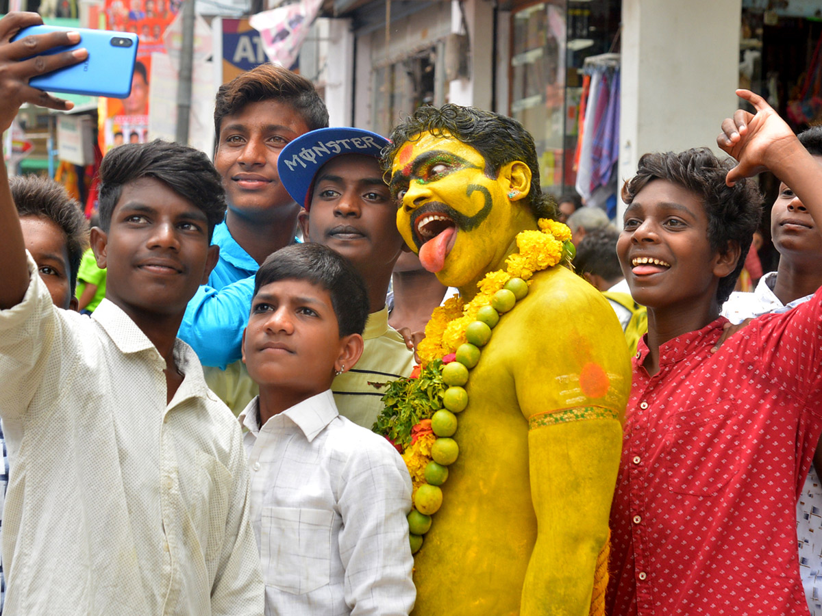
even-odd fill
[(516, 235), (505, 172), (488, 177), (476, 149), (427, 132), (399, 149), (390, 173), (397, 228), (441, 283), (464, 287), (502, 266)]

